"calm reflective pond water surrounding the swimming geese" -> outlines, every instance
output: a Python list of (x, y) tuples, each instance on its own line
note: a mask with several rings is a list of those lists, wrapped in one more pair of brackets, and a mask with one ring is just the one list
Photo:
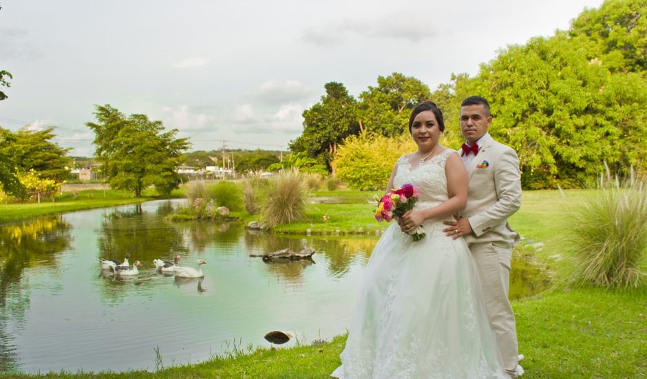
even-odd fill
[[(240, 223), (171, 223), (177, 201), (152, 201), (0, 226), (0, 372), (125, 371), (207, 360), (268, 346), (268, 331), (308, 343), (343, 334), (376, 237), (275, 236)], [(264, 263), (250, 253), (304, 245), (314, 261)], [(99, 258), (143, 267), (103, 273)], [(182, 256), (204, 279), (158, 274), (153, 259)], [(511, 297), (549, 285), (524, 256)], [(295, 345), (293, 339), (283, 346)]]

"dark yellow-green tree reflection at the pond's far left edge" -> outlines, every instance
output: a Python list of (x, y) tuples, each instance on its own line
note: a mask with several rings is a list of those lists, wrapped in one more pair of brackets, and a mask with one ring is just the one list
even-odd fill
[(56, 269), (56, 254), (70, 247), (69, 225), (61, 216), (0, 227), (0, 372), (17, 370), (13, 337), (8, 320), (25, 319), (30, 307), (30, 289), (25, 269)]

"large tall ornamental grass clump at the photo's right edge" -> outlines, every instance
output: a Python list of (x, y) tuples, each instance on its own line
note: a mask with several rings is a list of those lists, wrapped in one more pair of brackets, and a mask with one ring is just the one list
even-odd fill
[(644, 181), (602, 184), (575, 214), (570, 243), (579, 260), (578, 278), (604, 287), (639, 287), (647, 254)]

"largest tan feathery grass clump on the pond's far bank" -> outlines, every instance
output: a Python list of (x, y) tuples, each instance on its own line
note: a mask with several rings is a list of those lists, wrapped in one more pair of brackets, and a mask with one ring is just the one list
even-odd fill
[(267, 227), (297, 221), (306, 209), (308, 189), (299, 170), (276, 172), (268, 183), (261, 219)]

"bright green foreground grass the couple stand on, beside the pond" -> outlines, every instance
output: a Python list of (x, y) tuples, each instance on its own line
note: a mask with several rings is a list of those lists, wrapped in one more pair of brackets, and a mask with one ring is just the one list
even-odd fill
[[(647, 375), (647, 291), (577, 289), (513, 303), (523, 378), (641, 378)], [(56, 378), (328, 378), (345, 336), (324, 344), (260, 349), (156, 373), (55, 373)], [(152, 354), (152, 352), (151, 352)], [(164, 357), (162, 357), (164, 358)], [(29, 376), (8, 376), (28, 378)]]

